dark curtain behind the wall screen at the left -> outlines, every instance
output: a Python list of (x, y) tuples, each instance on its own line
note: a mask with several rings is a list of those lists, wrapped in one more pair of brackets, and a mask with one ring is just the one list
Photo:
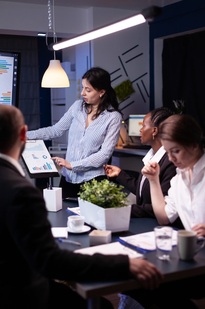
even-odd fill
[(19, 109), (29, 130), (40, 127), (37, 38), (0, 35), (0, 49), (21, 52)]

